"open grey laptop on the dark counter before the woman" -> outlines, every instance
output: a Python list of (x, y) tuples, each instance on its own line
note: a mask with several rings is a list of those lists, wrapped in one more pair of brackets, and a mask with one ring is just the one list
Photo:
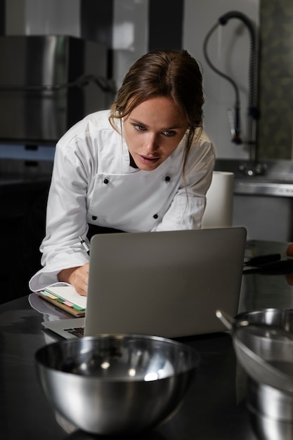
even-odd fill
[(216, 309), (238, 313), (246, 235), (242, 227), (94, 235), (86, 316), (43, 325), (65, 338), (222, 332)]

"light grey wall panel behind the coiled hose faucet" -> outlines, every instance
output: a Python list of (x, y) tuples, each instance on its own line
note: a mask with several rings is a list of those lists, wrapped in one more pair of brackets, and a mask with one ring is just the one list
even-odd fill
[[(211, 62), (221, 72), (231, 77), (240, 90), (242, 140), (240, 145), (231, 141), (228, 109), (234, 108), (235, 93), (231, 84), (216, 75), (204, 58), (204, 39), (221, 15), (228, 11), (240, 11), (259, 27), (259, 0), (185, 0), (183, 46), (202, 65), (204, 76), (204, 126), (216, 147), (218, 157), (249, 157), (249, 130), (247, 120), (249, 92), (249, 32), (242, 21), (231, 18), (225, 26), (219, 26), (211, 34), (207, 48)], [(233, 110), (234, 112), (234, 110)]]

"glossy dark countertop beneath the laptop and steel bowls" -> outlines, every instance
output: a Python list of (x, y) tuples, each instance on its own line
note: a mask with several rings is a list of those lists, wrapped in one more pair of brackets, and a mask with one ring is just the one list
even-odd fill
[[(247, 256), (285, 252), (286, 243), (249, 242)], [(285, 275), (243, 276), (240, 307), (293, 307), (293, 286)], [(31, 294), (0, 306), (0, 420), (6, 440), (89, 440), (79, 430), (61, 427), (41, 392), (34, 368), (34, 353), (55, 339), (42, 330), (44, 317), (56, 319), (50, 304)], [(139, 440), (256, 440), (245, 406), (245, 373), (237, 365), (230, 335), (186, 337), (201, 355), (200, 368), (178, 413), (162, 427), (137, 434)]]

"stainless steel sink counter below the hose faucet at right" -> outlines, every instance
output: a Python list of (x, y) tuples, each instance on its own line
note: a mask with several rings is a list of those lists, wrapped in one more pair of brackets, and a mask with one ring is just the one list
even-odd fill
[(216, 160), (215, 169), (234, 172), (233, 226), (248, 240), (293, 241), (293, 162), (266, 161), (264, 174), (248, 176), (245, 161)]

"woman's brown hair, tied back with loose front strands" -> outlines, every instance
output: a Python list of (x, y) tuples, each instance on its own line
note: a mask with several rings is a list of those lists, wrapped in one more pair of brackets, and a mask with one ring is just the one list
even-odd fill
[(155, 96), (167, 96), (188, 121), (183, 175), (193, 140), (202, 132), (202, 74), (188, 51), (152, 51), (139, 58), (124, 77), (110, 110), (110, 124), (122, 120), (134, 108)]

